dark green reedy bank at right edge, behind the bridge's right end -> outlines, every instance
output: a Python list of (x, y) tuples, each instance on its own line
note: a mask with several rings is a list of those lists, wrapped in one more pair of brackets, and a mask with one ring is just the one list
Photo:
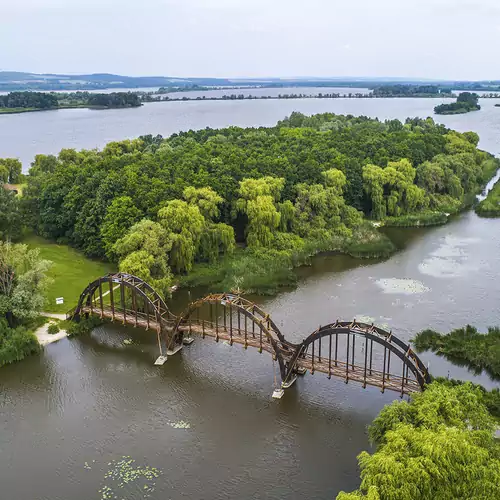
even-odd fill
[(456, 363), (463, 363), (481, 372), (486, 370), (492, 377), (500, 378), (500, 328), (488, 328), (480, 333), (467, 325), (442, 335), (433, 330), (424, 330), (414, 340), (419, 352), (431, 350)]

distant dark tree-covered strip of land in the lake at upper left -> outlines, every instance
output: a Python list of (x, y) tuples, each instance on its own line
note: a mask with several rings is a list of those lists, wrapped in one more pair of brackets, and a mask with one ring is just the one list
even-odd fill
[(11, 92), (0, 95), (0, 114), (25, 113), (64, 108), (135, 108), (142, 106), (141, 99), (133, 92)]

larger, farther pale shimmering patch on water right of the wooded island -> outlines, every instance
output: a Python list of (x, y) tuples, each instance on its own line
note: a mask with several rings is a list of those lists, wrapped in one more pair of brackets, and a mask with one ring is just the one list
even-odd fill
[(441, 245), (418, 266), (422, 274), (434, 278), (458, 278), (481, 269), (470, 259), (471, 247), (480, 243), (479, 238), (445, 236)]

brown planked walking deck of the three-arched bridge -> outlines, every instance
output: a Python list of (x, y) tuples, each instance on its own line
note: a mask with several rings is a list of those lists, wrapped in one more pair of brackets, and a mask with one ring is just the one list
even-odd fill
[[(145, 329), (152, 329), (157, 332), (163, 329), (171, 330), (173, 328), (172, 322), (161, 320), (161, 323), (156, 321), (154, 316), (147, 315), (146, 313), (115, 309), (105, 306), (103, 309), (100, 307), (85, 306), (82, 308), (82, 313), (95, 314), (103, 318), (120, 321), (123, 324), (136, 326)], [(213, 338), (216, 341), (227, 342), (229, 344), (240, 344), (247, 347), (252, 347), (260, 351), (266, 351), (273, 357), (275, 356), (274, 348), (260, 329), (256, 331), (249, 329), (238, 329), (235, 326), (230, 328), (224, 327), (222, 324), (212, 323), (210, 321), (190, 321), (181, 325), (180, 330), (184, 333), (195, 333), (202, 337)], [(278, 347), (281, 350), (283, 359), (286, 363), (292, 361), (294, 351), (290, 346), (277, 341)], [(305, 369), (311, 373), (321, 372), (329, 377), (336, 377), (345, 380), (345, 382), (358, 382), (363, 387), (374, 386), (379, 387), (382, 391), (390, 390), (400, 394), (411, 394), (413, 392), (420, 392), (421, 387), (419, 383), (411, 377), (403, 377), (392, 373), (383, 372), (368, 367), (367, 365), (358, 365), (355, 363), (345, 363), (345, 361), (330, 359), (329, 357), (313, 356), (310, 353), (305, 353), (297, 358), (295, 361), (296, 369)]]

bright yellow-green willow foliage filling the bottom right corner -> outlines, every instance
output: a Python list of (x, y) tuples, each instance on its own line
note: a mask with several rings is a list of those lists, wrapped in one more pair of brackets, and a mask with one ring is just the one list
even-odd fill
[(471, 384), (433, 383), (386, 406), (369, 428), (377, 451), (359, 457), (361, 487), (337, 500), (469, 500), (500, 497), (494, 420)]

